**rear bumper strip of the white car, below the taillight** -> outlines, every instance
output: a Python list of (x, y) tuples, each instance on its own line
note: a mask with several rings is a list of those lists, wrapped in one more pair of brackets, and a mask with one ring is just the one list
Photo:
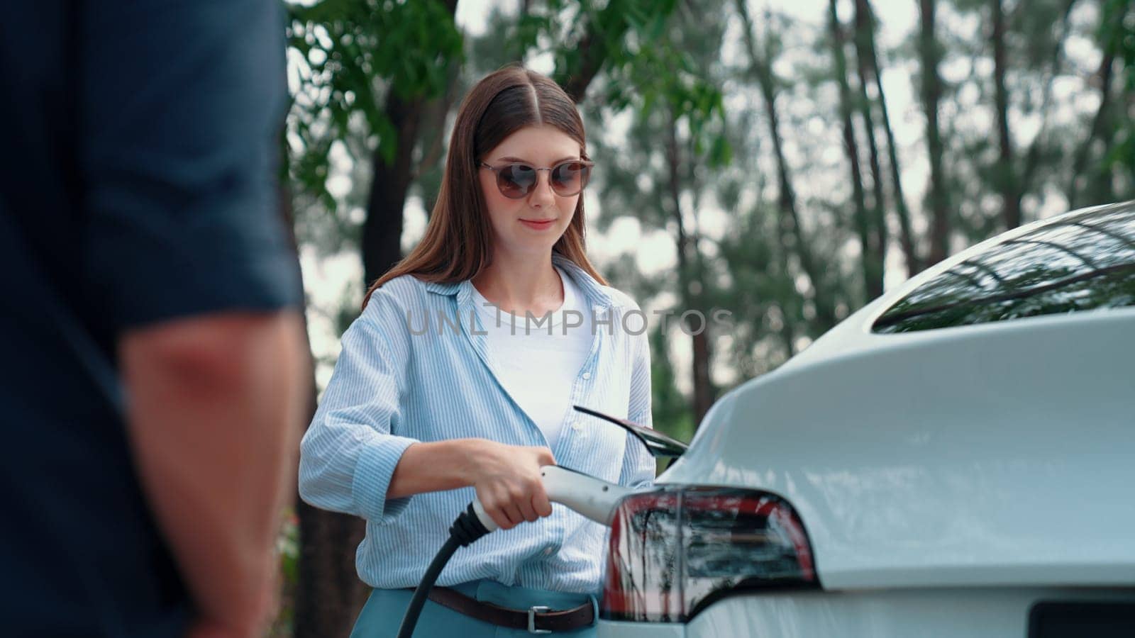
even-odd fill
[[(726, 597), (687, 624), (600, 621), (599, 638), (1024, 638), (1029, 614), (1045, 602), (1102, 603), (1100, 614), (1078, 605), (1076, 622), (1113, 619), (1123, 604), (1120, 627), (1092, 626), (1088, 633), (1067, 633), (1050, 616), (1035, 636), (1135, 636), (1135, 587), (1132, 588), (957, 588), (872, 591), (800, 591)], [(1056, 608), (1056, 607), (1044, 607)], [(1071, 608), (1071, 607), (1069, 607)], [(1085, 612), (1086, 610), (1086, 612)], [(1105, 613), (1103, 613), (1105, 612)], [(1086, 614), (1086, 615), (1085, 615)], [(1112, 615), (1107, 615), (1112, 614)], [(1065, 618), (1065, 620), (1068, 620)], [(1034, 624), (1036, 621), (1034, 621)], [(1036, 631), (1039, 628), (1034, 628)], [(1111, 633), (1111, 631), (1118, 631)]]

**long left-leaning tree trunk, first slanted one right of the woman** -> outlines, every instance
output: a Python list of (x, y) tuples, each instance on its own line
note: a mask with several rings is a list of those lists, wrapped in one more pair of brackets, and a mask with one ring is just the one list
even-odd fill
[[(737, 11), (741, 16), (745, 28), (745, 45), (749, 54), (749, 70), (756, 76), (760, 86), (760, 94), (764, 99), (765, 110), (768, 114), (768, 136), (773, 142), (773, 154), (776, 159), (776, 177), (779, 179), (777, 207), (780, 209), (779, 224), (783, 230), (782, 236), (791, 236), (794, 242), (796, 255), (800, 261), (800, 268), (812, 284), (813, 304), (816, 310), (816, 331), (823, 333), (835, 325), (835, 307), (827, 294), (824, 278), (821, 275), (819, 266), (812, 254), (812, 245), (804, 235), (800, 226), (800, 216), (796, 209), (796, 193), (792, 190), (792, 181), (789, 177), (788, 161), (784, 159), (783, 143), (780, 136), (780, 127), (776, 120), (776, 94), (772, 72), (771, 56), (762, 57), (757, 52), (753, 40), (753, 20), (749, 18), (749, 10), (745, 6), (745, 0), (737, 0)], [(787, 247), (787, 246), (784, 246)]]

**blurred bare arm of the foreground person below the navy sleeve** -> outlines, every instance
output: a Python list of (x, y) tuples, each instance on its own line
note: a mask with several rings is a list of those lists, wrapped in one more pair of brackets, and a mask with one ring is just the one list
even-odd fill
[(192, 636), (258, 636), (271, 613), (309, 359), (295, 312), (220, 313), (126, 333), (143, 489), (196, 604)]

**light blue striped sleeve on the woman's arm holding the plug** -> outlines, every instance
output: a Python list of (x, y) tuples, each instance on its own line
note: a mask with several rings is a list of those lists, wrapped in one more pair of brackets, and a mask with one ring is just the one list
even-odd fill
[(300, 445), (300, 496), (386, 523), (411, 497), (387, 500), (390, 477), (417, 439), (400, 436), (407, 349), (396, 302), (376, 291), (346, 333), (335, 372)]

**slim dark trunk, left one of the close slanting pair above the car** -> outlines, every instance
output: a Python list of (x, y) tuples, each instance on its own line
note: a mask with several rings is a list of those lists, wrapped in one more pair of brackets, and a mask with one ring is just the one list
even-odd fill
[(855, 226), (859, 235), (859, 266), (863, 272), (863, 289), (866, 300), (883, 294), (883, 263), (880, 261), (878, 235), (872, 233), (867, 217), (867, 201), (863, 188), (863, 170), (859, 167), (859, 144), (851, 119), (851, 87), (848, 85), (848, 65), (843, 47), (843, 28), (835, 10), (835, 0), (829, 1), (829, 34), (832, 39), (832, 56), (835, 61), (834, 77), (840, 90), (840, 119), (843, 123), (843, 152), (851, 168), (851, 199), (855, 205)]

